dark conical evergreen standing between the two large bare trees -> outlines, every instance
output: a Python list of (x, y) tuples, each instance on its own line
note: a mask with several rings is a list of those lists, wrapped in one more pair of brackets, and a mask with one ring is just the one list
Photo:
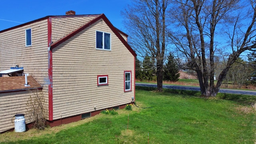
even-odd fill
[(174, 57), (170, 53), (168, 56), (168, 62), (164, 66), (163, 80), (170, 80), (172, 82), (176, 82), (179, 80), (180, 73), (178, 69), (178, 65), (174, 60)]

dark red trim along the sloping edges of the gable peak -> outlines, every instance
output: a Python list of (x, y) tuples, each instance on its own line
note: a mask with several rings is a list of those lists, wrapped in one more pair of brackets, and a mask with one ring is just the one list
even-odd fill
[[(119, 32), (122, 32), (120, 30), (118, 30), (117, 28), (115, 28), (111, 22), (108, 20), (108, 18), (104, 15), (104, 14), (100, 14), (98, 17), (94, 18), (93, 20), (91, 20), (90, 22), (84, 24), (83, 26), (81, 26), (80, 28), (74, 30), (73, 32), (71, 32), (70, 34), (64, 36), (63, 38), (61, 38), (60, 40), (54, 42), (53, 44), (50, 45), (50, 49), (55, 48), (56, 46), (58, 46), (59, 44), (61, 44), (62, 42), (65, 42), (66, 40), (68, 40), (69, 38), (71, 38), (72, 36), (78, 34), (79, 32), (81, 32), (82, 30), (84, 30), (85, 28), (87, 28), (88, 26), (94, 24), (95, 22), (97, 22), (98, 20), (103, 19), (106, 24), (110, 27), (110, 29), (114, 32), (114, 34), (116, 34), (116, 36), (119, 38), (119, 40), (124, 44), (124, 46), (126, 46), (126, 48), (130, 51), (130, 53), (133, 56), (137, 56), (137, 54), (134, 52), (134, 50), (132, 50), (132, 48), (130, 47), (130, 45), (124, 40), (124, 38), (121, 36), (121, 34)], [(122, 34), (124, 34), (125, 36), (127, 36), (127, 34), (125, 34), (124, 32), (122, 32)]]

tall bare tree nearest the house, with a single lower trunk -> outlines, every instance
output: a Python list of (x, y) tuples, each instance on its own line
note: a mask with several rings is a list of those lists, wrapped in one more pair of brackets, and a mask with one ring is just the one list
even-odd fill
[(168, 0), (134, 0), (133, 4), (122, 12), (130, 35), (128, 42), (140, 57), (150, 56), (156, 61), (157, 90), (162, 92)]

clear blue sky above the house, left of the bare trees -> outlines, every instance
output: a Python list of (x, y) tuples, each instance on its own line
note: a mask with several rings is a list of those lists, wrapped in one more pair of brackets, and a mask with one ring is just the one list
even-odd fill
[[(118, 29), (124, 30), (121, 11), (131, 0), (1, 0), (0, 31), (38, 18), (76, 14), (102, 14)], [(125, 32), (125, 31), (124, 31)]]

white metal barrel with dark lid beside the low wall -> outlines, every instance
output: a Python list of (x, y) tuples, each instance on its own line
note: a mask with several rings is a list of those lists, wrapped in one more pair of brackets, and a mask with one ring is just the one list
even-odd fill
[(15, 132), (25, 132), (26, 131), (26, 122), (25, 114), (15, 114), (14, 120), (14, 131)]

